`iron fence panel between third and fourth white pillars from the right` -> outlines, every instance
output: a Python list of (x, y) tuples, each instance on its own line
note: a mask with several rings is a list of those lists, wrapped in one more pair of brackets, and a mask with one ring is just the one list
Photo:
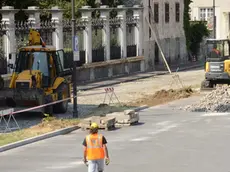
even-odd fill
[(103, 19), (92, 20), (92, 62), (105, 60), (105, 45), (102, 41)]

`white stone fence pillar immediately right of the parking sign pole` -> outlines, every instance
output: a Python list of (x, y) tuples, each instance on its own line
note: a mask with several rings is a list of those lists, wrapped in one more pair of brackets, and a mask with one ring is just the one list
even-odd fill
[(84, 49), (85, 49), (85, 63), (92, 63), (92, 11), (90, 6), (83, 6), (80, 9), (82, 13), (82, 20), (86, 22), (84, 30)]

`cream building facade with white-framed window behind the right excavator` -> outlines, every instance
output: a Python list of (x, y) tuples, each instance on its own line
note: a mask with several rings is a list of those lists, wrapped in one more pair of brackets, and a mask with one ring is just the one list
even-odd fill
[[(216, 15), (216, 38), (229, 38), (229, 0), (215, 0), (215, 15)], [(190, 5), (192, 21), (207, 21), (207, 26), (213, 30), (213, 0), (193, 0)], [(210, 37), (213, 37), (211, 35)]]

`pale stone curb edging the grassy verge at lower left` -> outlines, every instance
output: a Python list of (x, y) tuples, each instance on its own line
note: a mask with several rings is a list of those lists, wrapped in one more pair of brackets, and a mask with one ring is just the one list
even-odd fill
[(70, 132), (72, 132), (74, 130), (77, 130), (79, 128), (80, 127), (78, 127), (78, 126), (68, 127), (68, 128), (57, 130), (57, 131), (52, 131), (50, 133), (46, 133), (46, 134), (43, 134), (43, 135), (40, 135), (40, 136), (36, 136), (36, 137), (28, 138), (28, 139), (25, 139), (25, 140), (22, 140), (22, 141), (18, 141), (18, 142), (15, 142), (15, 143), (10, 143), (10, 144), (1, 146), (0, 147), (0, 152), (4, 152), (4, 151), (10, 150), (10, 149), (14, 149), (14, 148), (17, 148), (17, 147), (20, 147), (20, 146), (24, 146), (24, 145), (27, 145), (27, 144), (30, 144), (30, 143), (34, 143), (34, 142), (41, 141), (41, 140), (44, 140), (44, 139), (48, 139), (48, 138), (51, 138), (51, 137), (55, 137), (55, 136), (58, 136), (58, 135), (64, 135), (64, 134), (70, 133)]

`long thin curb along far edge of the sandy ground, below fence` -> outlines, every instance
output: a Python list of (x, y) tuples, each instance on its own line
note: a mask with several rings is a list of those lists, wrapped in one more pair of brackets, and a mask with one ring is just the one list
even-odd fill
[[(190, 69), (196, 69), (196, 68), (199, 68), (199, 67), (202, 67), (202, 66), (203, 65), (194, 65), (194, 66), (190, 66), (190, 67), (184, 67), (184, 68), (181, 68), (179, 70), (179, 72), (180, 71), (185, 71), (185, 70), (190, 70)], [(174, 69), (172, 71), (176, 72), (176, 69)], [(124, 82), (132, 82), (132, 81), (136, 81), (136, 80), (139, 80), (139, 79), (146, 79), (146, 78), (150, 78), (152, 76), (165, 75), (165, 74), (168, 74), (168, 73), (169, 72), (162, 72), (162, 73), (158, 73), (158, 74), (152, 74), (152, 75), (149, 75), (149, 76), (142, 76), (142, 77), (137, 77), (137, 78), (133, 78), (133, 79), (126, 79), (124, 81), (117, 81), (117, 82), (114, 82), (114, 83), (101, 84), (101, 85), (92, 86), (92, 87), (89, 87), (89, 88), (82, 88), (82, 89), (78, 89), (78, 91), (87, 91), (87, 90), (92, 90), (92, 89), (101, 88), (101, 87), (108, 87), (108, 86), (112, 86), (112, 85), (121, 84), (121, 83), (124, 83)]]

